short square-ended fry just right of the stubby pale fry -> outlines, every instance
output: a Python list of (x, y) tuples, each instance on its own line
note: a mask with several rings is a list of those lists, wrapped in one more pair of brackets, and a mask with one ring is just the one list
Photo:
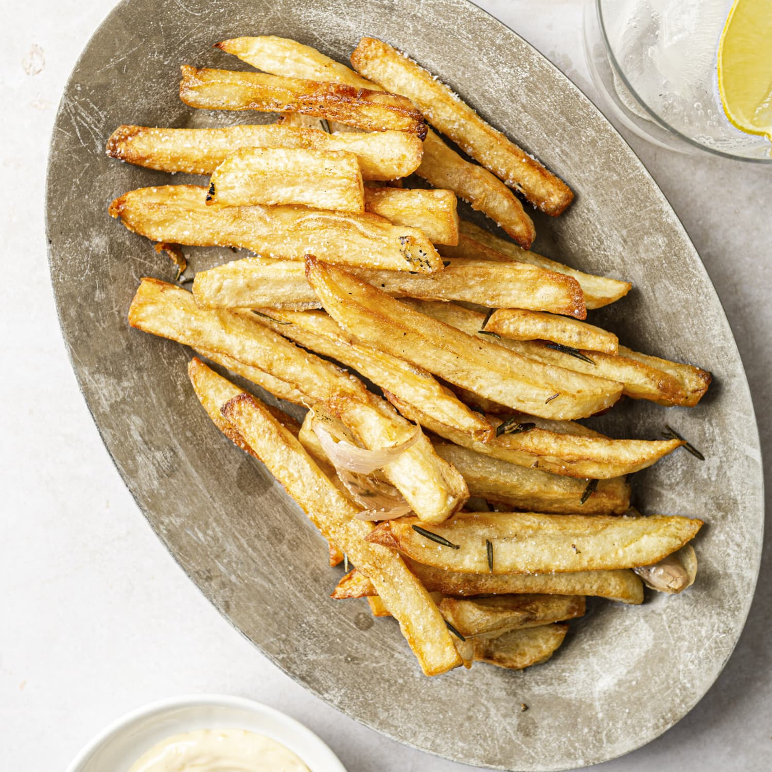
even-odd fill
[(420, 188), (366, 188), (367, 212), (394, 225), (418, 228), (432, 244), (459, 243), (459, 214), (455, 193)]

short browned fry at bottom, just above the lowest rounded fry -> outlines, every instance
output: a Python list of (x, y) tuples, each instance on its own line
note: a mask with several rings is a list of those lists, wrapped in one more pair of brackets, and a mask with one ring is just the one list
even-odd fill
[(584, 616), (584, 595), (497, 595), (442, 598), (439, 611), (465, 638), (496, 638), (510, 630)]

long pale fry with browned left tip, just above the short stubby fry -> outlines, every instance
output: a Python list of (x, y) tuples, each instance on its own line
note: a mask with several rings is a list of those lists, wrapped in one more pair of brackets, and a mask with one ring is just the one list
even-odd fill
[(225, 158), (242, 147), (354, 153), (365, 180), (407, 177), (418, 168), (423, 155), (421, 140), (405, 131), (327, 134), (319, 128), (285, 123), (219, 129), (120, 126), (107, 141), (107, 154), (160, 171), (212, 174)]

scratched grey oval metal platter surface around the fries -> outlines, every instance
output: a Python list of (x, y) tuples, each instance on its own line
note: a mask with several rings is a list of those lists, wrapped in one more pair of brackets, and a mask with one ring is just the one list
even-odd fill
[[(108, 159), (111, 130), (260, 120), (196, 112), (176, 92), (181, 63), (238, 66), (212, 49), (216, 40), (266, 33), (342, 60), (363, 34), (388, 39), (577, 191), (566, 215), (537, 215), (537, 248), (635, 283), (591, 320), (625, 344), (715, 375), (697, 408), (628, 402), (596, 422), (617, 436), (654, 437), (667, 421), (710, 449), (703, 464), (676, 453), (635, 479), (645, 512), (707, 521), (689, 592), (656, 595), (638, 608), (592, 603), (538, 668), (478, 665), (432, 680), (391, 621), (374, 623), (364, 604), (327, 597), (339, 571), (326, 567), (322, 540), (198, 407), (185, 374), (190, 352), (127, 327), (139, 278), (168, 279), (171, 269), (107, 215), (124, 191), (168, 182)], [(127, 486), (206, 597), (306, 688), (432, 753), (500, 769), (561, 770), (652, 740), (716, 679), (747, 615), (763, 527), (760, 451), (740, 357), (699, 257), (642, 164), (557, 69), (499, 22), (466, 0), (125, 0), (66, 88), (52, 138), (47, 225), (73, 367)], [(232, 257), (191, 250), (191, 265)], [(701, 324), (689, 324), (697, 313)]]

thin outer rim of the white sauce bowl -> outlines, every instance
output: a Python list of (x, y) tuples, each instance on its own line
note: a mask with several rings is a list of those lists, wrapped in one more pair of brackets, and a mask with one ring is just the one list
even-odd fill
[[(292, 716), (288, 716), (286, 713), (283, 713), (283, 711), (272, 708), (265, 703), (260, 703), (255, 699), (229, 694), (217, 694), (214, 692), (164, 697), (163, 699), (156, 699), (151, 703), (145, 703), (144, 705), (130, 710), (128, 713), (124, 713), (122, 716), (108, 723), (107, 726), (103, 726), (103, 728), (99, 730), (86, 745), (78, 751), (78, 753), (76, 753), (76, 756), (66, 767), (65, 772), (81, 772), (83, 764), (90, 759), (95, 751), (107, 744), (133, 723), (142, 719), (151, 718), (154, 715), (163, 715), (171, 710), (194, 706), (239, 708), (246, 710), (255, 716), (265, 716), (277, 720), (279, 723), (286, 726), (287, 729), (292, 730), (293, 735), (298, 736), (302, 740), (305, 740), (306, 743), (311, 743), (313, 745), (313, 758), (314, 760), (320, 759), (326, 764), (327, 766), (325, 769), (329, 769), (330, 772), (346, 772), (346, 768), (327, 743), (325, 743), (317, 733), (310, 730), (305, 724), (300, 723), (300, 721), (293, 719)], [(293, 747), (284, 741), (282, 744), (293, 751), (293, 753), (298, 753), (296, 745)], [(138, 757), (139, 755), (137, 755), (137, 758)], [(314, 770), (311, 770), (311, 772), (314, 772)]]

